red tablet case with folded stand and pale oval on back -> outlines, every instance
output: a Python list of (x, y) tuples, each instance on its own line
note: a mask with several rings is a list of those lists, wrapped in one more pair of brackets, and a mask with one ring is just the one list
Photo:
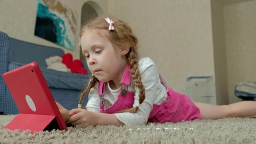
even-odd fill
[(19, 114), (4, 128), (35, 131), (67, 131), (43, 74), (34, 61), (3, 74)]

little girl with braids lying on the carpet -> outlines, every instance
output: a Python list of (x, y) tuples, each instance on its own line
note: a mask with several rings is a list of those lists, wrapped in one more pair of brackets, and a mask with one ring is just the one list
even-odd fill
[(92, 77), (78, 109), (68, 112), (57, 103), (66, 123), (86, 128), (256, 115), (256, 101), (203, 104), (168, 88), (151, 59), (138, 59), (137, 42), (131, 27), (115, 17), (100, 16), (83, 27), (80, 45)]

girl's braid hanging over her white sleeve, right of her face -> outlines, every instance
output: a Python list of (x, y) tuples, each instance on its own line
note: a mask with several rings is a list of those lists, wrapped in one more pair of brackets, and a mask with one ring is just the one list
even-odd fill
[[(139, 88), (139, 104), (142, 104), (142, 102), (144, 101), (145, 99), (145, 87), (144, 85), (142, 84), (141, 82), (141, 74), (139, 72), (139, 64), (138, 64), (138, 54), (137, 54), (137, 51), (136, 51), (136, 47), (134, 48), (135, 46), (131, 47), (130, 48), (130, 51), (128, 52), (128, 56), (127, 56), (127, 59), (129, 61), (129, 64), (130, 64), (130, 72), (131, 72), (131, 77), (135, 83), (135, 86), (137, 88)], [(124, 110), (121, 110), (119, 112), (132, 112), (132, 113), (135, 113), (139, 110), (139, 107), (133, 107), (131, 109), (124, 109)]]

